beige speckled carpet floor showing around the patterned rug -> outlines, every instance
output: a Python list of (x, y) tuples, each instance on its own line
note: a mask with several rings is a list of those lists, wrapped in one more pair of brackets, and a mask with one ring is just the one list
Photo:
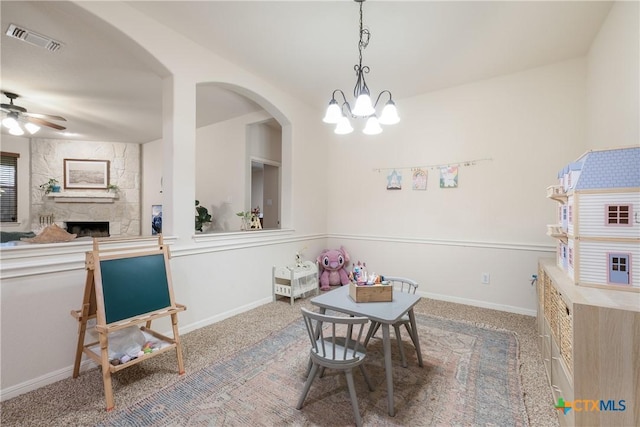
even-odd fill
[[(240, 316), (185, 334), (183, 354), (187, 372), (229, 356), (268, 337), (300, 317), (308, 300), (266, 304)], [(557, 426), (557, 415), (536, 347), (535, 319), (494, 310), (423, 299), (416, 312), (465, 320), (514, 331), (520, 344), (522, 388), (529, 423)], [(175, 356), (168, 353), (114, 375), (117, 408), (137, 402), (178, 379)], [(3, 426), (90, 426), (107, 420), (100, 371), (93, 369), (78, 379), (66, 379), (3, 402)], [(309, 422), (312, 425), (312, 422)], [(215, 425), (215, 424), (214, 424)], [(415, 425), (420, 425), (416, 420)]]

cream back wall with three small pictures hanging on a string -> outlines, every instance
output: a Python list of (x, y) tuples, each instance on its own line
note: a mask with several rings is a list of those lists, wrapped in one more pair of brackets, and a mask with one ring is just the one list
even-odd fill
[[(333, 246), (370, 270), (415, 278), (430, 296), (533, 314), (531, 275), (555, 250), (545, 190), (585, 151), (585, 82), (586, 61), (575, 59), (398, 100), (399, 125), (333, 138)], [(450, 163), (461, 163), (458, 188), (439, 188), (428, 167), (427, 190), (411, 189), (411, 167)], [(393, 168), (400, 191), (385, 187)]]

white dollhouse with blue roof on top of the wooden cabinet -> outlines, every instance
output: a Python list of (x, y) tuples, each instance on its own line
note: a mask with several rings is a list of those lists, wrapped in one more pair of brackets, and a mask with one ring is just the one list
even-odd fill
[(640, 147), (593, 150), (558, 173), (557, 265), (576, 285), (640, 291)]

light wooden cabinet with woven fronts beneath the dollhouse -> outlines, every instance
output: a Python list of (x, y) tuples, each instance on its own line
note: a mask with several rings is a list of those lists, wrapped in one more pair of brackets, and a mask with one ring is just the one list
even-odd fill
[(537, 281), (539, 348), (561, 425), (640, 425), (640, 294), (574, 285), (554, 259)]

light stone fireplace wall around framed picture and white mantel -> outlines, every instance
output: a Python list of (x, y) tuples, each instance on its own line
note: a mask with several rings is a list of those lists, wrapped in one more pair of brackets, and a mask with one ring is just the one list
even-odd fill
[[(40, 217), (53, 215), (60, 227), (66, 221), (109, 221), (111, 236), (140, 235), (140, 146), (119, 142), (84, 142), (31, 139), (31, 229), (43, 228)], [(64, 159), (109, 160), (109, 183), (120, 187), (109, 203), (90, 196), (107, 190), (65, 190)], [(65, 194), (84, 196), (80, 202), (60, 202), (44, 194), (40, 184), (49, 178), (60, 182)], [(84, 201), (86, 200), (86, 201)], [(46, 225), (46, 224), (45, 224)]]

